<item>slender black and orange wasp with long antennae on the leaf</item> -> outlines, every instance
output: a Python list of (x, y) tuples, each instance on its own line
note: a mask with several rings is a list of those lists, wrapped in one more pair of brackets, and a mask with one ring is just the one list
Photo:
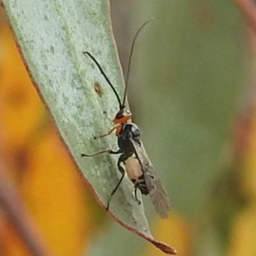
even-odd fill
[[(152, 20), (152, 19), (150, 19)], [(120, 154), (120, 157), (118, 158), (117, 167), (119, 172), (122, 174), (121, 178), (118, 180), (118, 183), (116, 184), (115, 188), (113, 189), (111, 195), (109, 196), (107, 209), (109, 209), (109, 204), (111, 201), (111, 198), (113, 195), (115, 195), (116, 190), (120, 186), (122, 180), (125, 176), (125, 171), (127, 173), (127, 176), (134, 184), (134, 195), (136, 198), (136, 201), (138, 204), (141, 204), (140, 200), (138, 200), (137, 197), (137, 189), (140, 189), (142, 195), (150, 195), (150, 198), (152, 200), (152, 203), (156, 209), (156, 212), (161, 216), (161, 218), (168, 218), (169, 214), (169, 208), (170, 208), (170, 202), (168, 199), (168, 196), (166, 194), (166, 191), (164, 190), (163, 186), (161, 185), (160, 180), (157, 178), (156, 173), (154, 172), (154, 168), (148, 159), (147, 153), (145, 152), (145, 149), (143, 147), (143, 144), (140, 140), (140, 130), (138, 129), (138, 126), (131, 122), (132, 114), (128, 109), (125, 109), (125, 98), (127, 93), (127, 84), (129, 79), (129, 71), (131, 66), (131, 58), (132, 58), (132, 52), (134, 49), (134, 44), (136, 42), (136, 38), (138, 37), (141, 29), (143, 29), (150, 20), (147, 20), (136, 32), (136, 35), (134, 36), (134, 39), (132, 41), (131, 46), (131, 52), (129, 56), (129, 63), (128, 63), (128, 71), (127, 71), (127, 78), (125, 81), (125, 91), (124, 91), (124, 98), (121, 101), (118, 93), (115, 90), (115, 87), (111, 83), (111, 81), (108, 79), (108, 76), (106, 76), (105, 72), (100, 67), (99, 62), (90, 54), (90, 52), (83, 52), (83, 54), (88, 55), (95, 65), (100, 70), (100, 73), (106, 81), (108, 82), (109, 86), (113, 90), (113, 92), (116, 95), (116, 99), (118, 100), (119, 104), (119, 110), (116, 113), (115, 118), (113, 119), (113, 128), (107, 132), (106, 134), (103, 134), (97, 138), (102, 138), (104, 136), (108, 136), (113, 131), (115, 131), (115, 134), (118, 138), (118, 147), (119, 149), (116, 151), (113, 151), (111, 149), (102, 150), (99, 152), (96, 152), (94, 154), (81, 154), (82, 157), (92, 157), (92, 156), (98, 156), (102, 153), (108, 153), (108, 154)], [(121, 166), (121, 164), (124, 164), (124, 168)]]

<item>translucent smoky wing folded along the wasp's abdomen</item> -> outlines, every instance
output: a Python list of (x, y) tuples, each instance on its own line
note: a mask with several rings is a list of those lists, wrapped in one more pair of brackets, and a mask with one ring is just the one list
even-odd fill
[(149, 195), (156, 209), (156, 212), (161, 218), (168, 218), (170, 209), (170, 201), (168, 195), (164, 190), (161, 181), (157, 178), (156, 173), (154, 172), (154, 167), (148, 159), (147, 153), (142, 143), (140, 142), (141, 144), (139, 144), (138, 142), (132, 140), (132, 138), (131, 142), (132, 146), (134, 147), (136, 157), (138, 157), (141, 168), (144, 172), (145, 182), (147, 184)]

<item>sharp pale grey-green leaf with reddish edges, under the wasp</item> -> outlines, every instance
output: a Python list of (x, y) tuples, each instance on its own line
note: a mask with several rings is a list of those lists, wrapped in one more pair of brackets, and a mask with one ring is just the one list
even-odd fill
[[(115, 136), (100, 141), (93, 140), (93, 136), (111, 128), (102, 112), (114, 116), (118, 102), (95, 63), (82, 52), (95, 56), (116, 90), (123, 92), (124, 81), (109, 25), (109, 3), (102, 0), (4, 0), (3, 3), (36, 89), (84, 180), (105, 207), (120, 178), (117, 159), (108, 155), (84, 159), (81, 152), (117, 149)], [(95, 92), (99, 84), (102, 95)], [(164, 252), (175, 253), (173, 248), (152, 237), (143, 206), (136, 203), (132, 191), (132, 182), (125, 179), (113, 196), (110, 215)]]

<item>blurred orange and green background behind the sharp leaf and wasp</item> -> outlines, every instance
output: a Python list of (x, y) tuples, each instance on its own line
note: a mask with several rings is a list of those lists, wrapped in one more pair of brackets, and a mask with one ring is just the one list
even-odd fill
[[(152, 233), (180, 256), (256, 255), (255, 35), (232, 1), (111, 0), (129, 104), (172, 210)], [(163, 255), (86, 189), (0, 12), (0, 150), (38, 236), (60, 256)], [(1, 170), (3, 172), (3, 170)], [(2, 207), (3, 208), (3, 207)], [(31, 255), (0, 208), (0, 255)]]

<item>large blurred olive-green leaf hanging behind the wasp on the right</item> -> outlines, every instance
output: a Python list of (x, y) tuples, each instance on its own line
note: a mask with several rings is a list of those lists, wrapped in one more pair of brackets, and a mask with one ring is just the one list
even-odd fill
[(143, 13), (155, 20), (134, 68), (137, 123), (173, 208), (195, 220), (225, 171), (246, 90), (243, 22), (236, 6), (221, 0), (148, 1)]

